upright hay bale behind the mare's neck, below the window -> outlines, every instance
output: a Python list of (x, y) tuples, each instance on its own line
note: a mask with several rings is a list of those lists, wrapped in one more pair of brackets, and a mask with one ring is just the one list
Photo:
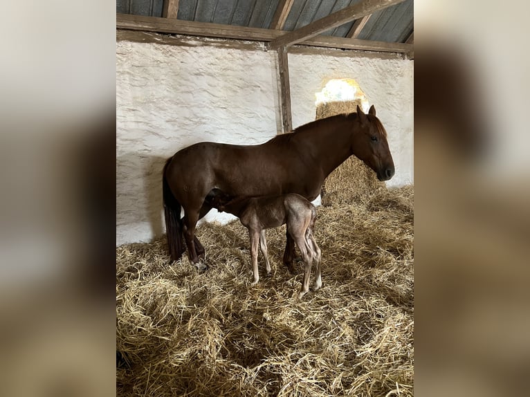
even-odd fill
[[(342, 113), (354, 113), (360, 99), (318, 104), (316, 120)], [(322, 187), (322, 205), (356, 203), (377, 190), (385, 189), (375, 172), (363, 161), (351, 156), (326, 178)]]

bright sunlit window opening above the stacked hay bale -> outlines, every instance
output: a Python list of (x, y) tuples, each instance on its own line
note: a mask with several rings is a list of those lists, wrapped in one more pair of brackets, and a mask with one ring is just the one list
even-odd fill
[(365, 93), (354, 79), (331, 79), (322, 91), (315, 93), (315, 96), (317, 109), (320, 105), (329, 102), (347, 102), (349, 105), (360, 104), (361, 109), (365, 112), (369, 108)]

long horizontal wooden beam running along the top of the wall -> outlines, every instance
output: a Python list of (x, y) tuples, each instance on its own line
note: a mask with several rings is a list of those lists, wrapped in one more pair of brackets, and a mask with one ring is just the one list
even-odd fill
[[(248, 28), (205, 22), (182, 21), (141, 15), (116, 14), (116, 28), (142, 30), (145, 32), (172, 33), (203, 37), (221, 37), (225, 39), (272, 41), (282, 35), (281, 30)], [(345, 37), (318, 36), (300, 43), (302, 46), (344, 48), (347, 50), (379, 51), (385, 53), (409, 53), (414, 50), (412, 44), (386, 43), (383, 41), (346, 39)]]

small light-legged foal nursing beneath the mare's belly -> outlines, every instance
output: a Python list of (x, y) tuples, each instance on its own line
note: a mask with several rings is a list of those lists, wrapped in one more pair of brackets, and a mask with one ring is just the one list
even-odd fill
[(316, 281), (313, 290), (322, 286), (320, 277), (320, 259), (322, 254), (313, 238), (312, 228), (316, 219), (316, 208), (299, 194), (282, 196), (260, 196), (251, 198), (231, 199), (220, 190), (214, 189), (206, 201), (219, 211), (229, 212), (239, 218), (250, 234), (250, 254), (254, 279), (251, 285), (257, 284), (257, 246), (265, 258), (267, 275), (271, 274), (271, 264), (267, 256), (265, 230), (287, 224), (287, 233), (293, 238), (304, 261), (304, 279), (299, 298), (309, 291), (309, 277), (313, 261), (316, 264)]

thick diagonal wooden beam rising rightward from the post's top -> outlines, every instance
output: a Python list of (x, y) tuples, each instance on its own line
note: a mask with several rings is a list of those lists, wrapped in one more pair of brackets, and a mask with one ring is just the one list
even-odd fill
[(404, 0), (363, 0), (353, 6), (342, 8), (342, 10), (333, 12), (333, 14), (327, 17), (318, 19), (317, 21), (311, 22), (300, 29), (293, 30), (292, 32), (286, 33), (277, 39), (271, 41), (270, 48), (275, 50), (282, 46), (292, 46), (293, 44), (300, 43), (300, 41), (307, 40), (311, 37), (315, 37), (319, 33), (325, 32), (326, 30), (336, 28), (337, 26), (346, 24), (349, 21), (370, 15), (381, 10), (394, 6), (394, 4), (401, 3)]

